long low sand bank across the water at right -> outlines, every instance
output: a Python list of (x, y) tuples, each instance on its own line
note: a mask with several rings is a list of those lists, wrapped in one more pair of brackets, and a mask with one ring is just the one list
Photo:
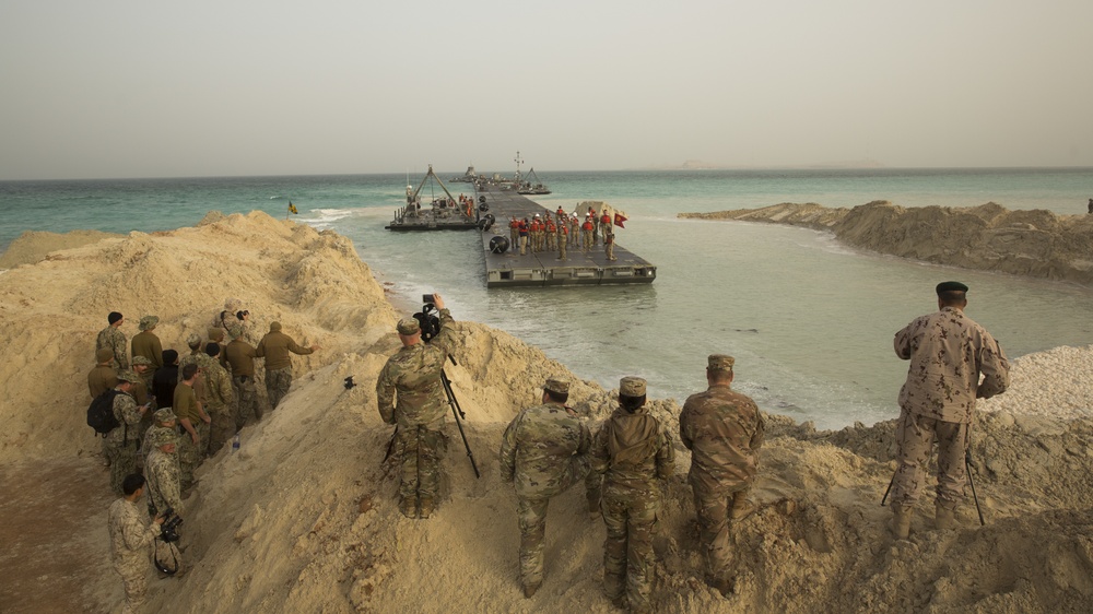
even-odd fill
[(937, 264), (1093, 284), (1093, 215), (975, 208), (853, 209), (781, 203), (762, 209), (680, 213), (700, 220), (772, 222), (830, 231), (843, 243)]

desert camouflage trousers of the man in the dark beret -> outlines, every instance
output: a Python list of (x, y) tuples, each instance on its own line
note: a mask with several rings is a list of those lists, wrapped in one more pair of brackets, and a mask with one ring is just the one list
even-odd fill
[(926, 483), (926, 465), (938, 442), (938, 500), (948, 509), (956, 509), (964, 497), (964, 451), (967, 446), (967, 426), (931, 417), (900, 412), (895, 427), (896, 462), (892, 480), (892, 506), (910, 507)]

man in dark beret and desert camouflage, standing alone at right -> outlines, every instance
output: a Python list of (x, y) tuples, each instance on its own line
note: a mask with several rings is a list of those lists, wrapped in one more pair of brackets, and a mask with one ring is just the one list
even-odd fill
[[(938, 442), (938, 498), (935, 522), (949, 529), (964, 496), (964, 454), (976, 399), (989, 399), (1010, 385), (1006, 354), (986, 329), (964, 315), (967, 286), (938, 284), (938, 311), (916, 318), (895, 333), (897, 356), (910, 361), (900, 390), (896, 462), (892, 479), (893, 532), (910, 533), (910, 509), (918, 500), (926, 464)], [(983, 382), (979, 382), (980, 375)]]

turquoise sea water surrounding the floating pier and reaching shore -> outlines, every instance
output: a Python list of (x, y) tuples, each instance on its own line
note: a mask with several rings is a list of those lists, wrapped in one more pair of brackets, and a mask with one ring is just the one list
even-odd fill
[[(510, 170), (508, 172), (510, 174)], [(459, 173), (442, 173), (443, 178)], [(196, 224), (255, 209), (352, 238), (407, 305), (436, 290), (457, 318), (506, 330), (606, 387), (624, 375), (680, 402), (705, 386), (705, 356), (737, 356), (738, 388), (821, 427), (897, 414), (906, 363), (892, 334), (933, 310), (932, 288), (972, 287), (968, 314), (1011, 357), (1093, 343), (1093, 288), (859, 252), (830, 235), (765, 224), (678, 220), (683, 211), (779, 202), (855, 206), (1047, 209), (1084, 214), (1093, 169), (866, 169), (543, 173), (544, 206), (602, 200), (630, 222), (619, 243), (658, 265), (645, 287), (490, 290), (473, 232), (385, 231), (406, 175), (0, 182), (0, 248), (27, 229), (113, 233)], [(410, 182), (418, 185), (418, 177)], [(453, 192), (466, 184), (448, 184)], [(427, 190), (427, 188), (426, 188)]]

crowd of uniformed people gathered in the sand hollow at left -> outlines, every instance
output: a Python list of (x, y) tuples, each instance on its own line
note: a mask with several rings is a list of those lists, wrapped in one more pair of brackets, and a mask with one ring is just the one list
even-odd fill
[[(255, 359), (265, 358), (272, 410), (292, 385), (291, 353), (310, 354), (319, 346), (298, 345), (279, 322), (252, 345), (257, 334), (250, 311), (238, 299), (226, 302), (204, 336), (190, 333), (189, 353), (180, 357), (175, 350), (162, 349), (156, 316), (140, 319), (131, 343), (121, 331), (122, 314), (114, 311), (107, 321), (96, 339), (96, 365), (87, 374), (87, 387), (92, 399), (113, 395), (118, 426), (105, 434), (103, 452), (110, 486), (121, 498), (110, 507), (109, 530), (115, 569), (126, 586), (126, 609), (132, 611), (143, 601), (149, 545), (165, 512), (181, 516), (183, 495), (196, 483), (197, 467), (265, 414), (255, 388)], [(145, 493), (150, 524), (137, 510)]]

